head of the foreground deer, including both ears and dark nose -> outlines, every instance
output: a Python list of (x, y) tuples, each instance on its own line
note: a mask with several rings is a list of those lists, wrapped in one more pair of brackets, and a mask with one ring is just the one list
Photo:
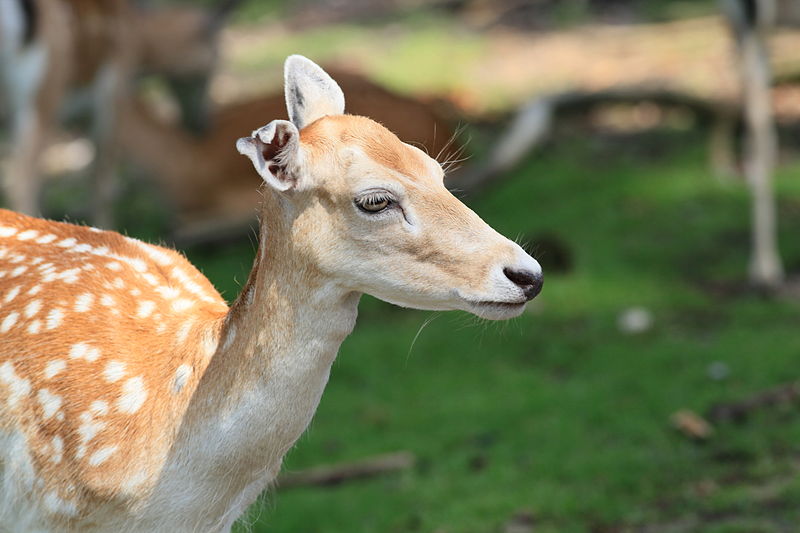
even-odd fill
[(291, 121), (237, 148), (278, 196), (294, 249), (338, 286), (404, 307), (519, 315), (542, 287), (539, 263), (444, 186), (441, 166), (366, 117), (302, 56), (285, 65)]

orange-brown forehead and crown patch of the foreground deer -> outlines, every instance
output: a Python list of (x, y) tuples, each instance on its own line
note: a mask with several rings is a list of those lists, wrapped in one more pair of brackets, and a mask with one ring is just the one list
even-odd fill
[(381, 124), (357, 115), (323, 117), (300, 132), (313, 166), (327, 154), (355, 148), (367, 163), (379, 165), (414, 182), (441, 182), (442, 169), (424, 152), (405, 144)]

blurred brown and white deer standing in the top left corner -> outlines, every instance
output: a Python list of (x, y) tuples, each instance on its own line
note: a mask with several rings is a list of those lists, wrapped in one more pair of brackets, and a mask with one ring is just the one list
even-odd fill
[(89, 110), (92, 213), (97, 225), (111, 225), (118, 109), (134, 75), (165, 76), (180, 96), (187, 124), (201, 127), (218, 30), (237, 3), (223, 0), (205, 12), (140, 11), (125, 0), (0, 2), (0, 72), (13, 143), (4, 185), (11, 206), (39, 213), (37, 167), (47, 138), (63, 116)]

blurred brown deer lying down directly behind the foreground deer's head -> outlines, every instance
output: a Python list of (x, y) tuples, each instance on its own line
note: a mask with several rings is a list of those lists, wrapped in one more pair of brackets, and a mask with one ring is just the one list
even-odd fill
[[(348, 94), (352, 114), (380, 122), (407, 142), (426, 147), (444, 161), (459, 157), (454, 113), (446, 102), (425, 102), (394, 94), (368, 79), (345, 72), (333, 77)], [(226, 105), (210, 115), (213, 128), (191, 135), (133, 101), (121, 112), (120, 143), (125, 156), (152, 173), (174, 207), (183, 242), (225, 237), (249, 228), (260, 196), (251, 165), (230, 150), (230, 139), (254, 116), (286, 117), (282, 94)]]

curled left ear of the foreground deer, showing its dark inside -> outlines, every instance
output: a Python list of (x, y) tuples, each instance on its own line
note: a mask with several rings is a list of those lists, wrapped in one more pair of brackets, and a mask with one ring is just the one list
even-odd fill
[(297, 126), (288, 120), (273, 120), (236, 141), (236, 149), (253, 162), (256, 172), (279, 191), (296, 188), (299, 172)]

